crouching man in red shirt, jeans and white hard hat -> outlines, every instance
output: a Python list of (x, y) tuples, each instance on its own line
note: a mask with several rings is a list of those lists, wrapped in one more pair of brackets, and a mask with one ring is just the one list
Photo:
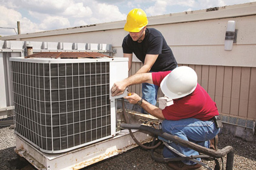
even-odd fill
[[(197, 83), (197, 73), (190, 67), (181, 66), (173, 71), (134, 74), (121, 82), (115, 82), (111, 89), (112, 96), (123, 94), (126, 87), (130, 85), (144, 82), (161, 87), (164, 95), (173, 99), (173, 105), (166, 106), (161, 110), (143, 100), (136, 93), (132, 93), (131, 96), (126, 96), (124, 99), (132, 104), (140, 105), (152, 116), (163, 120), (162, 129), (164, 132), (210, 148), (210, 140), (214, 139), (220, 132), (221, 127), (215, 123), (219, 122), (219, 113), (216, 103)], [(214, 119), (218, 121), (214, 121)], [(170, 143), (169, 145), (186, 156), (199, 154), (197, 151), (177, 143)], [(163, 156), (166, 158), (177, 157), (167, 147), (163, 149)], [(167, 168), (177, 170), (202, 169), (202, 166), (190, 160), (184, 160), (182, 162), (169, 162)]]

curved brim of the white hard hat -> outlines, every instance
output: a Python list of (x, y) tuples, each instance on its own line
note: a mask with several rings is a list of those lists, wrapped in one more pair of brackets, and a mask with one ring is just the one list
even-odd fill
[(187, 96), (189, 95), (190, 93), (192, 93), (195, 88), (197, 88), (197, 85), (191, 90), (189, 91), (188, 93), (183, 93), (183, 94), (176, 94), (176, 93), (172, 93), (172, 91), (169, 90), (169, 88), (167, 87), (167, 80), (168, 80), (168, 77), (170, 76), (170, 73), (164, 77), (164, 79), (162, 80), (161, 84), (160, 84), (160, 87), (161, 87), (161, 90), (162, 92), (164, 93), (165, 96), (169, 97), (169, 99), (179, 99), (181, 97), (184, 97), (184, 96)]

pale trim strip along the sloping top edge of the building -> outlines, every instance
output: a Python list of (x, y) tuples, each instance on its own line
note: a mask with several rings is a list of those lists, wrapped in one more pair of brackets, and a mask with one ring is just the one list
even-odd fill
[[(256, 15), (256, 2), (249, 2), (246, 4), (230, 5), (224, 7), (218, 7), (218, 10), (207, 11), (204, 10), (195, 10), (195, 11), (185, 11), (182, 13), (173, 13), (168, 15), (160, 16), (149, 16), (149, 26), (158, 25), (158, 24), (175, 24), (180, 22), (192, 22), (192, 21), (203, 21), (209, 19), (222, 19), (222, 18), (234, 18), (241, 16), (250, 16)], [(102, 24), (93, 24), (88, 27), (71, 27), (58, 30), (49, 30), (42, 31), (37, 33), (27, 33), (27, 34), (18, 34), (13, 36), (4, 36), (0, 40), (19, 40), (25, 38), (35, 38), (35, 37), (44, 37), (44, 36), (59, 36), (61, 34), (75, 34), (75, 33), (86, 33), (92, 31), (106, 31), (113, 29), (123, 29), (125, 20), (115, 21), (115, 22), (106, 22)]]

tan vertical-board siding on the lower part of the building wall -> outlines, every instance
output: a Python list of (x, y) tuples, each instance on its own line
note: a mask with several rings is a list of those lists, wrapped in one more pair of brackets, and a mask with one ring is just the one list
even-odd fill
[[(134, 71), (130, 73), (136, 73), (142, 65), (133, 63)], [(179, 64), (181, 65), (195, 70), (198, 83), (216, 102), (221, 114), (256, 119), (256, 68)], [(141, 85), (134, 85), (132, 92), (142, 96)], [(160, 89), (158, 97), (163, 96)]]

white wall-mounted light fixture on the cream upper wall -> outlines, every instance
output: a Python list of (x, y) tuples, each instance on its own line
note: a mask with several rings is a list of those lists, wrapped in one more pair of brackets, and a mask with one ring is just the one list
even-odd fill
[(227, 22), (224, 50), (231, 51), (233, 43), (237, 42), (237, 30), (235, 30), (235, 21)]

